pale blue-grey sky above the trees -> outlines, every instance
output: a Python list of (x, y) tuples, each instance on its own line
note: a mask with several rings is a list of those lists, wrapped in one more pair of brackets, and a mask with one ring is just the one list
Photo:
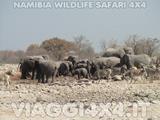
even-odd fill
[(145, 0), (144, 9), (15, 9), (15, 1), (20, 0), (0, 0), (0, 50), (25, 50), (31, 43), (78, 35), (96, 50), (101, 40), (121, 42), (133, 34), (160, 39), (160, 0)]

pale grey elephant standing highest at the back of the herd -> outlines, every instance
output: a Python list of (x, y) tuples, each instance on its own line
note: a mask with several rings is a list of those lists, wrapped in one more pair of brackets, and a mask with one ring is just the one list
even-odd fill
[(118, 57), (122, 58), (124, 54), (134, 54), (133, 49), (131, 47), (124, 48), (108, 48), (102, 57)]

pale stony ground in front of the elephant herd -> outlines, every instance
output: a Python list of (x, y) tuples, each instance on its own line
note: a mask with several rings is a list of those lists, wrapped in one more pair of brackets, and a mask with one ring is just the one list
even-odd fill
[(0, 120), (160, 120), (160, 81), (60, 77), (0, 83)]

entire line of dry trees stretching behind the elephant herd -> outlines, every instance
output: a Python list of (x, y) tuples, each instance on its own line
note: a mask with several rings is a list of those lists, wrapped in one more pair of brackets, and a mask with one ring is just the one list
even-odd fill
[[(144, 38), (138, 35), (131, 35), (123, 44), (119, 44), (116, 40), (99, 41), (101, 51), (105, 52), (107, 48), (131, 47), (135, 54), (147, 54), (149, 56), (160, 56), (160, 40), (157, 38)], [(53, 60), (63, 60), (69, 55), (78, 56), (81, 59), (100, 55), (96, 53), (91, 41), (85, 36), (80, 35), (74, 37), (74, 41), (68, 41), (61, 38), (51, 38), (44, 40), (40, 45), (31, 44), (28, 48), (18, 51), (0, 51), (0, 63), (18, 63), (25, 56), (30, 55), (49, 55)]]

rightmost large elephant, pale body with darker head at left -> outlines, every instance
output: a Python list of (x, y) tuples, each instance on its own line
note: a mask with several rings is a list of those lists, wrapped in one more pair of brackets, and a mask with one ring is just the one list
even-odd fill
[(150, 63), (151, 63), (151, 58), (146, 54), (139, 54), (139, 55), (125, 54), (120, 59), (120, 66), (126, 65), (127, 69), (133, 66), (140, 67), (143, 65), (149, 65)]

